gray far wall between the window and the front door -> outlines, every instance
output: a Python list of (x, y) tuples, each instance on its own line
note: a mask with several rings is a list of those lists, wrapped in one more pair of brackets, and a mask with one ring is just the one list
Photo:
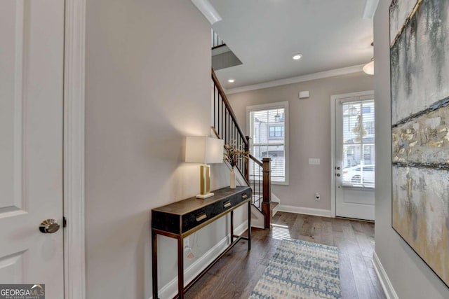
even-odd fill
[[(309, 99), (298, 99), (303, 90)], [(364, 90), (373, 90), (373, 76), (357, 73), (228, 96), (245, 132), (246, 106), (288, 101), (290, 185), (272, 185), (281, 204), (330, 210), (330, 96)], [(309, 165), (309, 158), (320, 158), (321, 165)]]

